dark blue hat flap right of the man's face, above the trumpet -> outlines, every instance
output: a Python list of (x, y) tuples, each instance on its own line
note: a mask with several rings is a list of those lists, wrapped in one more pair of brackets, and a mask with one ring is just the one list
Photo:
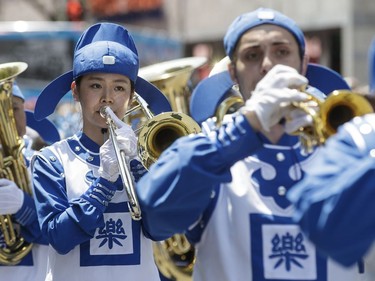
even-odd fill
[(324, 94), (329, 95), (334, 90), (350, 90), (350, 86), (338, 72), (315, 63), (307, 66), (306, 78), (309, 85), (313, 86)]

